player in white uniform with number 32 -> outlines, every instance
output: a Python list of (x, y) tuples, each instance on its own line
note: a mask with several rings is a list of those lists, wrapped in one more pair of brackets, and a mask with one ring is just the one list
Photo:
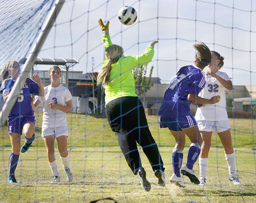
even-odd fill
[(208, 65), (208, 70), (203, 72), (206, 78), (206, 85), (199, 93), (199, 96), (207, 99), (219, 95), (221, 100), (218, 105), (199, 105), (195, 116), (203, 140), (202, 150), (199, 155), (200, 185), (204, 186), (206, 184), (206, 167), (208, 164), (208, 154), (213, 130), (217, 132), (224, 147), (229, 180), (232, 181), (234, 185), (241, 185), (235, 172), (236, 160), (226, 111), (225, 89), (232, 90), (233, 85), (228, 75), (219, 71), (224, 64), (224, 57), (215, 51), (211, 51), (211, 56), (212, 59), (211, 63)]

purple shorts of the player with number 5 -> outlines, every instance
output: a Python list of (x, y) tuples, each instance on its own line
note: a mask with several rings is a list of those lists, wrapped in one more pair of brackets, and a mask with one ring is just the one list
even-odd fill
[(23, 126), (28, 123), (35, 123), (34, 115), (26, 116), (16, 116), (13, 118), (8, 118), (8, 131), (9, 133), (18, 133), (22, 134)]

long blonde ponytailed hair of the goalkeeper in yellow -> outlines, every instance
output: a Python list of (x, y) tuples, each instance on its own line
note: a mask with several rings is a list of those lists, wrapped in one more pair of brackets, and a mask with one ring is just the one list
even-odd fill
[(116, 63), (119, 58), (123, 56), (123, 48), (119, 45), (112, 44), (105, 50), (105, 59), (106, 63), (98, 72), (97, 77), (97, 85), (99, 86), (101, 83), (103, 87), (106, 83), (109, 82), (110, 72), (112, 68), (112, 64)]

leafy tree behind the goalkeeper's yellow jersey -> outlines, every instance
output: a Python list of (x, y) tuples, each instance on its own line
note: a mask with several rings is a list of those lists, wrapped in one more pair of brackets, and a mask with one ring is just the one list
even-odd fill
[(135, 90), (136, 90), (136, 94), (139, 97), (142, 97), (144, 93), (146, 93), (148, 89), (150, 89), (151, 86), (153, 86), (153, 83), (151, 83), (153, 69), (154, 69), (154, 66), (152, 65), (150, 69), (150, 75), (148, 77), (146, 77), (147, 64), (140, 65), (133, 70), (133, 76), (135, 80)]

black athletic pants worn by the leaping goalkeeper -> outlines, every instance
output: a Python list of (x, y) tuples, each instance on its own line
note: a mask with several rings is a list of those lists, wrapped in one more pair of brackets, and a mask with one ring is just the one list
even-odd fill
[(136, 142), (142, 147), (153, 170), (164, 171), (161, 155), (148, 128), (145, 111), (138, 97), (120, 97), (109, 102), (105, 114), (118, 138), (127, 164), (135, 175), (142, 168)]

